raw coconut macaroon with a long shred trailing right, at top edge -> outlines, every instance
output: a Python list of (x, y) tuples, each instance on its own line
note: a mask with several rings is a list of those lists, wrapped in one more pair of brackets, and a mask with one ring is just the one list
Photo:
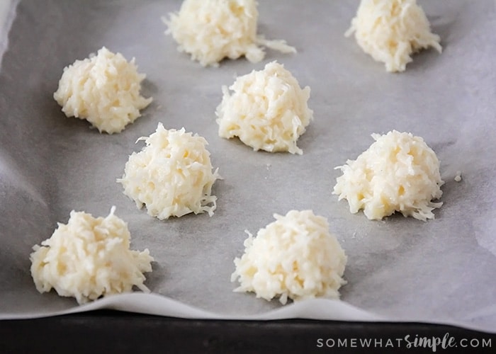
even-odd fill
[(179, 44), (178, 50), (191, 55), (203, 67), (218, 67), (224, 58), (246, 57), (260, 62), (261, 46), (283, 53), (296, 52), (284, 40), (266, 40), (257, 35), (257, 1), (185, 0), (178, 13), (163, 17), (166, 34)]

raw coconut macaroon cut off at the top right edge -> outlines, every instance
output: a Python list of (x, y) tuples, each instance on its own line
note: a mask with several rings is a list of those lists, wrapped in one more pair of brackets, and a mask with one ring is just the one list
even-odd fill
[(355, 33), (363, 52), (384, 62), (388, 72), (403, 72), (412, 53), (434, 47), (442, 51), (439, 35), (431, 33), (416, 0), (361, 0), (346, 36)]

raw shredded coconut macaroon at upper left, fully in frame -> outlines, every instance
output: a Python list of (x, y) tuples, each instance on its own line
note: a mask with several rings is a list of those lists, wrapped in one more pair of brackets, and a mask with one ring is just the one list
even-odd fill
[(140, 95), (143, 79), (134, 58), (128, 62), (102, 47), (64, 68), (53, 98), (67, 117), (86, 119), (99, 132), (118, 133), (152, 102)]

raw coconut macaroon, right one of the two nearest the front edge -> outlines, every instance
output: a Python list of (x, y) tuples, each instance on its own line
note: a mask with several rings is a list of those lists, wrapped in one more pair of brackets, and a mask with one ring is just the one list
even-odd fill
[(339, 287), (346, 284), (346, 255), (329, 233), (327, 219), (312, 210), (274, 218), (256, 237), (247, 232), (244, 254), (234, 261), (231, 281), (239, 280), (235, 292), (255, 292), (266, 300), (278, 297), (281, 304), (288, 298), (339, 298)]

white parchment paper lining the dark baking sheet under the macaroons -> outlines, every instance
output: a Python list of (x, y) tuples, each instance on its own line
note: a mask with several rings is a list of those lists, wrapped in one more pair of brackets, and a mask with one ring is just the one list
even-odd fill
[[(186, 318), (312, 318), (424, 321), (496, 332), (495, 2), (419, 1), (444, 52), (416, 55), (402, 74), (364, 55), (343, 33), (357, 1), (259, 1), (259, 32), (285, 39), (296, 55), (268, 50), (203, 68), (176, 51), (161, 16), (181, 1), (22, 0), (0, 72), (0, 319), (96, 308)], [(53, 100), (62, 69), (102, 46), (136, 58), (153, 103), (118, 135), (100, 135), (66, 118)], [(215, 107), (220, 86), (236, 75), (285, 64), (312, 89), (315, 120), (300, 137), (302, 156), (253, 152), (220, 139)], [(138, 137), (163, 122), (208, 140), (218, 209), (213, 217), (159, 221), (137, 210), (115, 179)], [(332, 188), (334, 166), (355, 159), (371, 133), (409, 131), (441, 161), (446, 184), (436, 219), (395, 215), (372, 222), (351, 215)], [(454, 181), (456, 171), (463, 180)], [(55, 292), (40, 295), (29, 254), (71, 210), (116, 215), (128, 222), (132, 248), (150, 249), (151, 295), (107, 297), (84, 306)], [(255, 233), (272, 214), (312, 209), (329, 219), (348, 256), (341, 301), (317, 299), (282, 307), (232, 292), (232, 260), (244, 229)]]

